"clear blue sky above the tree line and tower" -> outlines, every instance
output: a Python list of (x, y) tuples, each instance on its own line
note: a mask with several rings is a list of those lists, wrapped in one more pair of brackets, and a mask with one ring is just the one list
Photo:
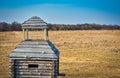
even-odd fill
[(120, 25), (120, 0), (1, 0), (0, 22), (39, 16), (54, 24)]

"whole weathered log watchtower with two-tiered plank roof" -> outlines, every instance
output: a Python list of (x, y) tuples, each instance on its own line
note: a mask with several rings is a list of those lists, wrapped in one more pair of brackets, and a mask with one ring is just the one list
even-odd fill
[[(33, 16), (22, 24), (24, 40), (10, 53), (10, 78), (57, 78), (59, 51), (48, 39), (48, 26)], [(44, 29), (44, 40), (29, 40), (29, 29)]]

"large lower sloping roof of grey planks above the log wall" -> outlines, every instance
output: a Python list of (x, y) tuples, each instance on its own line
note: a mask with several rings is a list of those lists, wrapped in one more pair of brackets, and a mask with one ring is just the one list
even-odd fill
[(59, 57), (58, 49), (50, 41), (22, 41), (9, 55), (15, 59), (56, 59)]

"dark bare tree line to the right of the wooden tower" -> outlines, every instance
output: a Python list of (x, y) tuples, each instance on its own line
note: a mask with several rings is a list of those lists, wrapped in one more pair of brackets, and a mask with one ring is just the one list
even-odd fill
[(100, 25), (100, 24), (49, 24), (51, 30), (120, 30), (119, 25)]

